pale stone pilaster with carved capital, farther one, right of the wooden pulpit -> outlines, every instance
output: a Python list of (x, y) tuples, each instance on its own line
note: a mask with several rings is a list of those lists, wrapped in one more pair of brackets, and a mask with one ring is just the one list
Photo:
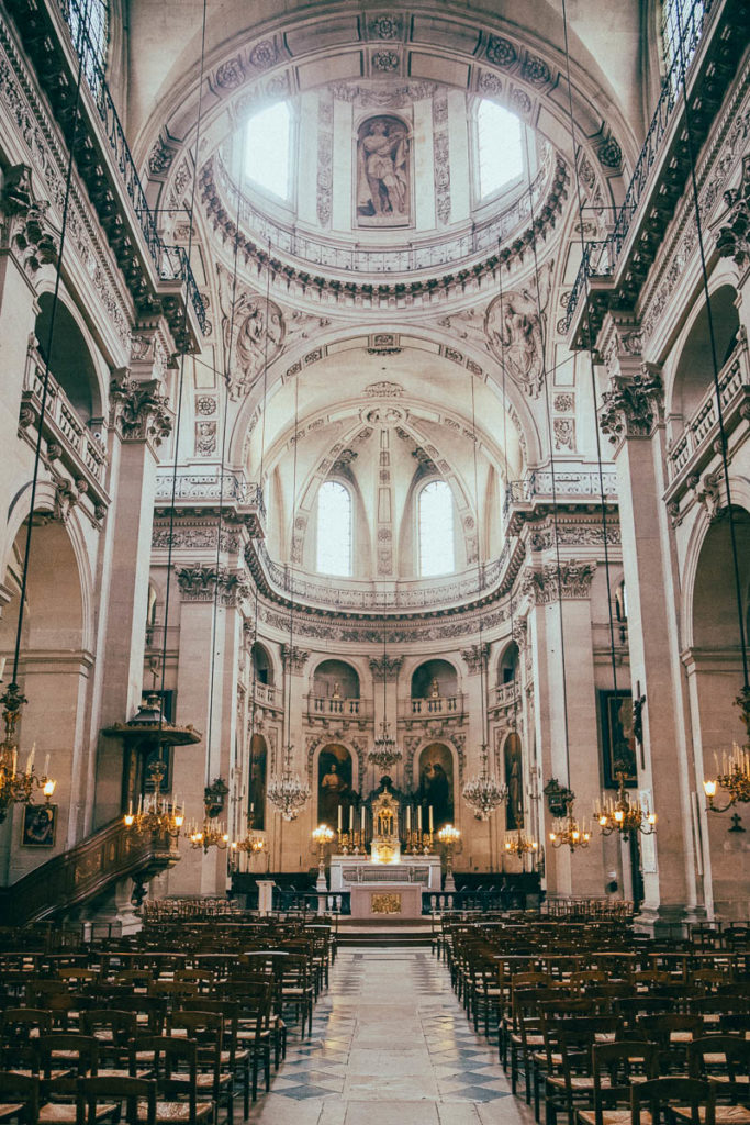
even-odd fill
[[(242, 574), (215, 562), (178, 566), (180, 647), (177, 674), (177, 722), (192, 723), (202, 741), (174, 749), (172, 792), (186, 804), (186, 819), (204, 820), (204, 791), (217, 778), (229, 782), (237, 721), (237, 669), (242, 641), (241, 605), (249, 590)], [(227, 794), (217, 820), (228, 830)], [(218, 894), (226, 891), (228, 850), (181, 845), (183, 860), (169, 873), (170, 894)]]

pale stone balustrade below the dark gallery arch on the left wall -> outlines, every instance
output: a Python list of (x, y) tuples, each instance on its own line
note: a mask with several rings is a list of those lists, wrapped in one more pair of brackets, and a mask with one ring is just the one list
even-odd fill
[[(29, 348), (24, 372), (20, 424), (37, 425), (42, 412), (45, 362), (36, 348)], [(52, 460), (60, 459), (73, 480), (82, 482), (94, 504), (109, 504), (106, 490), (107, 450), (71, 403), (62, 386), (49, 372), (44, 411), (44, 436)], [(53, 456), (53, 453), (55, 456)]]

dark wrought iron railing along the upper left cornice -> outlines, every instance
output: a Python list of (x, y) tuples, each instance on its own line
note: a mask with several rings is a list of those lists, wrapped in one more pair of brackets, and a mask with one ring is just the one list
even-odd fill
[(206, 335), (208, 321), (198, 282), (184, 249), (182, 246), (168, 246), (159, 234), (156, 220), (146, 200), (125, 130), (105, 79), (100, 48), (89, 35), (85, 12), (79, 0), (57, 0), (57, 7), (71, 33), (73, 47), (81, 60), (87, 86), (97, 107), (103, 134), (112, 151), (120, 182), (133, 205), (156, 277), (162, 281), (180, 281), (184, 285), (187, 300), (196, 314), (201, 333)]

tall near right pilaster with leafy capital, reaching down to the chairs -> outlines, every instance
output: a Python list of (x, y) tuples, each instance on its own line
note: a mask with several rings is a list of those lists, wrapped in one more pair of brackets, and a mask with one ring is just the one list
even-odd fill
[(644, 363), (638, 324), (608, 314), (598, 340), (609, 387), (602, 432), (614, 447), (627, 592), (631, 683), (645, 695), (639, 791), (658, 814), (656, 837), (641, 840), (644, 901), (641, 919), (694, 920), (696, 862), (690, 825), (686, 701), (676, 620), (678, 584), (666, 488), (661, 378)]

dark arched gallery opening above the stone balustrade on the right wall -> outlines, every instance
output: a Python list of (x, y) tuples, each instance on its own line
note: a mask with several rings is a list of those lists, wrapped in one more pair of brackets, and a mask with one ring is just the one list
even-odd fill
[[(730, 284), (724, 282), (711, 292), (711, 313), (720, 369), (737, 344), (740, 316), (735, 302), (737, 291)], [(672, 438), (681, 433), (712, 387), (713, 359), (708, 310), (703, 302), (698, 302), (683, 333), (670, 381), (667, 413), (674, 426)]]

